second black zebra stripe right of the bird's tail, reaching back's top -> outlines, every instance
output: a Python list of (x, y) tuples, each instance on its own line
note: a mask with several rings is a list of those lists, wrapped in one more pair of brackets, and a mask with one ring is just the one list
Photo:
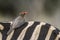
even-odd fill
[(34, 22), (34, 24), (27, 29), (26, 34), (25, 34), (25, 37), (23, 38), (23, 40), (29, 40), (30, 39), (30, 37), (32, 36), (33, 31), (35, 30), (35, 27), (38, 24), (39, 24), (39, 22)]

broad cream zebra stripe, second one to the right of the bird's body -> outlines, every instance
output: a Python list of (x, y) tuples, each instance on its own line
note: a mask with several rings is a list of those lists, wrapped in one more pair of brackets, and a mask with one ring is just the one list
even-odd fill
[(40, 32), (42, 25), (45, 25), (45, 23), (42, 22), (39, 25), (37, 25), (30, 40), (37, 40), (38, 39), (38, 36), (40, 34), (39, 32)]

